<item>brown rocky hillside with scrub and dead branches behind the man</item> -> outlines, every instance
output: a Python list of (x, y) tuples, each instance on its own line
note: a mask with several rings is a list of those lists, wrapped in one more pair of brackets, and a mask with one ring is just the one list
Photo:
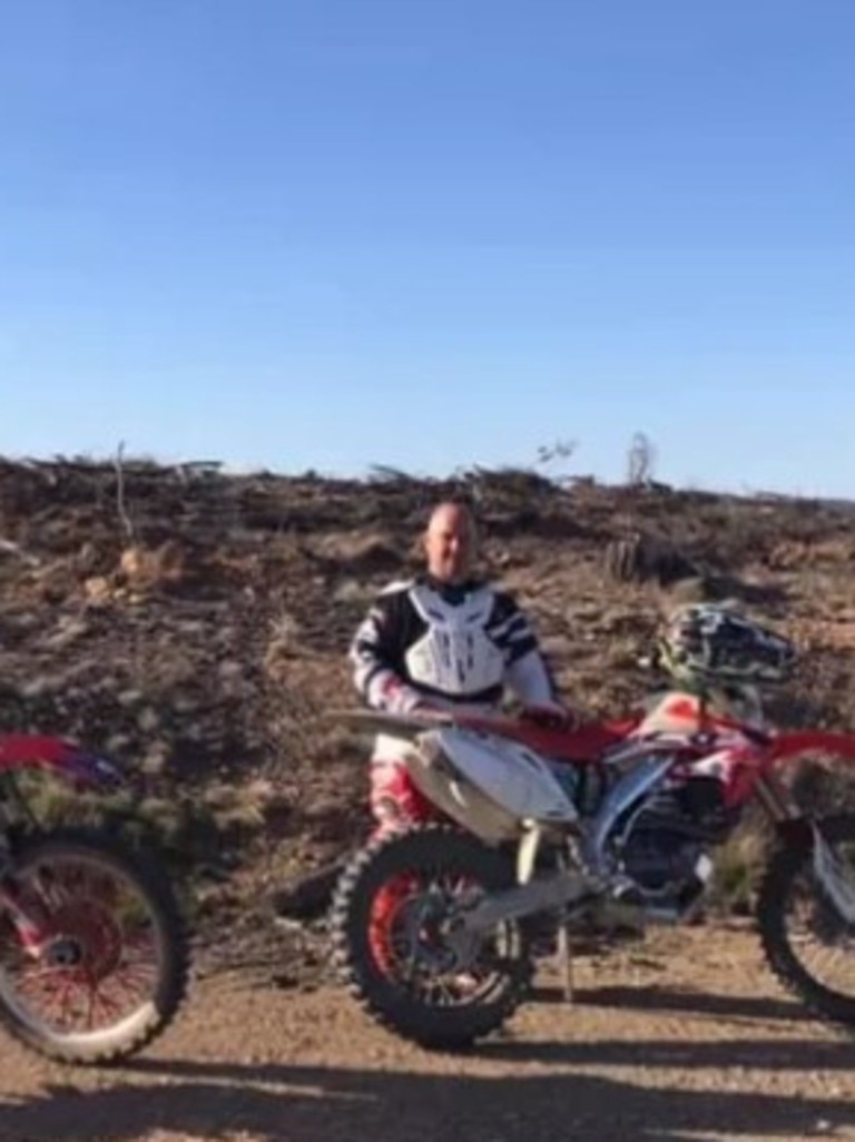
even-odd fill
[[(228, 892), (309, 868), (361, 828), (365, 742), (347, 642), (466, 496), (484, 569), (535, 618), (565, 695), (618, 711), (662, 608), (733, 597), (789, 632), (790, 723), (855, 723), (855, 507), (473, 471), (228, 475), (215, 464), (0, 461), (0, 726), (57, 731), (138, 779), (176, 853)], [(223, 890), (224, 892), (226, 890)]]

